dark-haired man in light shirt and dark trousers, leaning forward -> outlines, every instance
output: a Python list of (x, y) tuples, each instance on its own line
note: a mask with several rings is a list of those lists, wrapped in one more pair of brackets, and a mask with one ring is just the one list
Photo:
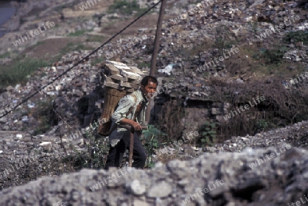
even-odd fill
[[(118, 102), (118, 107), (112, 114), (112, 125), (127, 124), (135, 129), (133, 138), (133, 167), (144, 168), (146, 162), (146, 152), (139, 139), (144, 126), (146, 107), (148, 100), (156, 93), (157, 79), (155, 77), (146, 76), (141, 80), (140, 89), (132, 94), (123, 96)], [(141, 125), (140, 125), (141, 124)], [(130, 131), (124, 128), (117, 128), (109, 136), (110, 150), (105, 164), (107, 170), (110, 166), (119, 167), (123, 160), (126, 149), (129, 149)]]

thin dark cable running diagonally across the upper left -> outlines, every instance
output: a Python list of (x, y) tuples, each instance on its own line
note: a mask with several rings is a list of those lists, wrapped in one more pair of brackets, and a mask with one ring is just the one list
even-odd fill
[[(84, 57), (82, 60), (79, 60), (79, 62), (75, 63), (73, 66), (71, 66), (70, 68), (68, 68), (66, 71), (64, 71), (64, 73), (62, 73), (61, 75), (57, 76), (55, 79), (53, 79), (53, 81), (49, 82), (46, 86), (40, 88), (40, 90), (43, 90), (44, 88), (46, 88), (47, 86), (51, 85), (51, 83), (55, 82), (57, 79), (59, 79), (60, 77), (62, 77), (63, 75), (65, 75), (66, 73), (68, 73), (68, 71), (70, 71), (72, 68), (74, 68), (75, 66), (77, 66), (78, 64), (80, 64), (81, 62), (84, 62), (84, 60), (86, 60), (88, 57), (90, 57), (90, 55), (96, 53), (97, 51), (99, 51), (99, 49), (101, 49), (103, 46), (105, 46), (105, 44), (109, 43), (111, 40), (113, 40), (116, 36), (118, 36), (119, 34), (121, 34), (123, 31), (125, 31), (125, 29), (127, 29), (128, 27), (130, 27), (131, 25), (133, 25), (133, 23), (135, 23), (136, 21), (139, 20), (139, 18), (141, 18), (142, 16), (144, 16), (145, 14), (147, 14), (149, 11), (151, 11), (153, 8), (155, 8), (156, 5), (158, 5), (159, 3), (161, 3), (162, 0), (158, 1), (157, 3), (155, 3), (153, 6), (151, 6), (151, 8), (149, 8), (148, 10), (146, 10), (146, 12), (144, 12), (143, 14), (141, 14), (140, 16), (138, 16), (138, 18), (136, 18), (134, 21), (132, 21), (131, 23), (129, 23), (129, 25), (127, 25), (126, 27), (124, 27), (124, 29), (118, 31), (118, 33), (116, 33), (114, 36), (112, 36), (112, 38), (110, 38), (109, 40), (107, 40), (107, 42), (101, 44), (100, 47), (98, 47), (97, 49), (94, 49), (91, 53), (89, 53), (88, 55), (86, 55), (86, 57)], [(19, 105), (22, 105), (23, 103), (25, 103), (26, 101), (28, 101), (29, 99), (31, 99), (34, 95), (38, 94), (38, 92), (40, 92), (40, 90), (37, 90), (36, 92), (34, 92), (34, 94), (31, 94), (30, 96), (28, 96), (26, 99), (24, 99), (23, 101), (21, 101), (21, 103), (19, 103), (18, 105), (16, 105), (15, 107), (12, 108), (12, 110), (7, 111), (7, 113), (3, 114), (2, 116), (0, 116), (0, 118), (2, 118), (3, 116), (6, 116), (8, 114), (10, 114), (10, 112), (16, 110), (16, 108)]]

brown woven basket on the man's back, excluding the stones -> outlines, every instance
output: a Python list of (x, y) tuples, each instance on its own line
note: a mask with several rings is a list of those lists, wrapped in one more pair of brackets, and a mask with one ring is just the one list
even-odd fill
[(118, 101), (126, 95), (125, 90), (117, 90), (115, 88), (105, 87), (104, 107), (101, 114), (101, 121), (99, 124), (98, 133), (107, 133), (110, 130), (112, 120), (110, 120)]

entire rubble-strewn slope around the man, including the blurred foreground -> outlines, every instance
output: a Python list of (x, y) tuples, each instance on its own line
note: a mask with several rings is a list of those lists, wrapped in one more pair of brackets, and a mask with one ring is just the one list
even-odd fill
[[(121, 7), (100, 1), (81, 11), (85, 2), (32, 0), (16, 5), (20, 12), (14, 23), (5, 25), (12, 32), (0, 39), (0, 116), (157, 1), (138, 1), (138, 9), (133, 3)], [(153, 109), (153, 124), (168, 135), (160, 143), (168, 144), (151, 154), (155, 168), (84, 169), (61, 176), (101, 168), (94, 159), (103, 162), (107, 142), (81, 133), (103, 110), (101, 62), (116, 60), (148, 74), (156, 8), (0, 118), (0, 205), (304, 203), (307, 8), (305, 0), (168, 1)], [(14, 46), (21, 35), (47, 21), (55, 27)], [(257, 96), (265, 100), (250, 107)], [(240, 113), (246, 105), (249, 110)], [(211, 123), (210, 129), (205, 122)], [(200, 135), (185, 141), (194, 131)], [(105, 148), (93, 158), (99, 145)]]

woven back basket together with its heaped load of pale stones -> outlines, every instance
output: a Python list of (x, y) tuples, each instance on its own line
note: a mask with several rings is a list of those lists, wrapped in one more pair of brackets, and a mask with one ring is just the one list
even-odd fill
[(97, 132), (109, 136), (112, 120), (110, 119), (118, 101), (138, 89), (144, 73), (135, 66), (127, 66), (120, 62), (106, 61), (101, 72), (105, 88), (103, 112), (99, 120)]

